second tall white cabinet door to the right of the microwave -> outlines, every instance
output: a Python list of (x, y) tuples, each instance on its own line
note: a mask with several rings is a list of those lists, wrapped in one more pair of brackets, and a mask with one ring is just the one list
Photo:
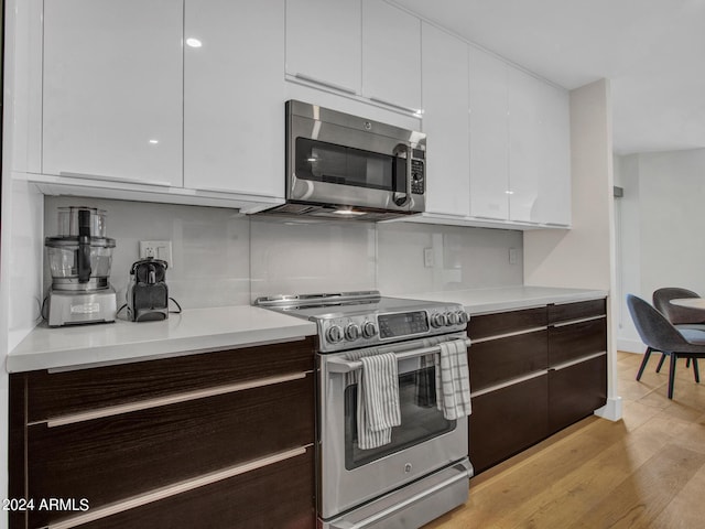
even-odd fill
[(470, 215), (509, 218), (509, 120), (503, 61), (474, 46), (470, 57)]

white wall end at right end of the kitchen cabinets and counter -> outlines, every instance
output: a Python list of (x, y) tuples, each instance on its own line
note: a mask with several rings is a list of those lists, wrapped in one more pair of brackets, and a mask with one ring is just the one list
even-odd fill
[(524, 234), (524, 283), (609, 292), (607, 406), (601, 417), (621, 417), (617, 393), (618, 312), (615, 285), (611, 94), (606, 79), (571, 91), (572, 229)]

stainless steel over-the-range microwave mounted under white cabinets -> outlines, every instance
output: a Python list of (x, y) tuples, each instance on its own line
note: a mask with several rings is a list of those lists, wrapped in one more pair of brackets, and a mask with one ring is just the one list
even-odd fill
[(286, 101), (286, 204), (268, 214), (382, 220), (422, 213), (426, 136)]

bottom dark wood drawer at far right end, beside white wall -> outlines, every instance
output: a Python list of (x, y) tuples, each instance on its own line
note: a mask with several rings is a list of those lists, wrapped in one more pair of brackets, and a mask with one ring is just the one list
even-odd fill
[(607, 402), (607, 355), (549, 371), (550, 433), (592, 415)]

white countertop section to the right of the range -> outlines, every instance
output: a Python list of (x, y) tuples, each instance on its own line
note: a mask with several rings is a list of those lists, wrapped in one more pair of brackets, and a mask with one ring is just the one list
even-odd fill
[(453, 290), (423, 292), (404, 295), (417, 300), (462, 303), (473, 314), (513, 311), (546, 305), (549, 303), (574, 303), (606, 298), (605, 290), (560, 289), (553, 287), (502, 287), (495, 289)]

